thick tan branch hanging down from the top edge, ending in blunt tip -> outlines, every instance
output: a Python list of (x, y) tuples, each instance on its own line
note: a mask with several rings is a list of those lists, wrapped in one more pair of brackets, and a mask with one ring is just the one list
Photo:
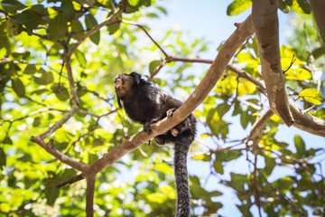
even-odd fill
[(253, 0), (252, 16), (270, 108), (291, 127), (293, 118), (280, 61), (277, 9), (277, 1)]

